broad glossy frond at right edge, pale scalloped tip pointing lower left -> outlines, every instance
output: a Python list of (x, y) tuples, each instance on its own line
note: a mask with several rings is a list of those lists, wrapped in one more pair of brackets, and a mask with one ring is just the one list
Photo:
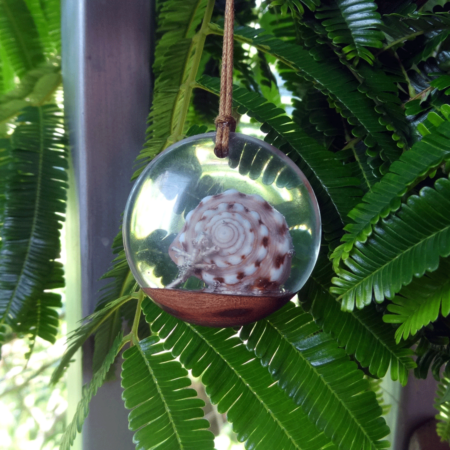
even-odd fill
[(373, 228), (365, 242), (356, 242), (342, 270), (333, 278), (333, 293), (342, 308), (361, 308), (392, 298), (413, 276), (436, 270), (439, 256), (450, 254), (450, 181), (439, 178), (434, 188), (411, 195), (398, 211)]

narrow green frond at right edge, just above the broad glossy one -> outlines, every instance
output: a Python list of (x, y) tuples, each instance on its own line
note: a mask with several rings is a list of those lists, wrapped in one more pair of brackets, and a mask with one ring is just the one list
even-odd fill
[[(445, 105), (442, 110), (448, 117), (450, 106)], [(362, 197), (361, 203), (348, 213), (353, 223), (345, 226), (347, 232), (342, 243), (331, 255), (334, 269), (339, 272), (339, 262), (348, 257), (358, 241), (370, 235), (380, 217), (386, 217), (400, 206), (401, 196), (412, 185), (449, 159), (450, 121), (446, 119), (430, 128), (428, 134), (394, 161), (389, 171)]]

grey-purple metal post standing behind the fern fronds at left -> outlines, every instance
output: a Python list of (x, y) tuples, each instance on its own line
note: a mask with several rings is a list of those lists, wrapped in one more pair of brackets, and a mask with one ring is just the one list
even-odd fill
[[(111, 244), (131, 188), (133, 161), (144, 141), (150, 5), (151, 0), (61, 1), (65, 113), (79, 220), (79, 236), (72, 241), (79, 237), (80, 242), (79, 248), (67, 248), (68, 260), (75, 265), (80, 260), (78, 281), (76, 268), (66, 274), (71, 289), (80, 286), (80, 295), (67, 292), (67, 301), (79, 297), (82, 316), (93, 311), (102, 287), (99, 277), (111, 265)], [(90, 350), (83, 348), (84, 382), (92, 376)], [(84, 423), (83, 450), (134, 448), (120, 395), (119, 380), (99, 389)]]

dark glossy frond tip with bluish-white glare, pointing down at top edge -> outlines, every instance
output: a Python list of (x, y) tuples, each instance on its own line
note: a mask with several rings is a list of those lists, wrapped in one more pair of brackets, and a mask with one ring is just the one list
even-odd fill
[(336, 5), (322, 5), (315, 13), (335, 44), (342, 44), (347, 59), (356, 57), (372, 64), (375, 57), (367, 47), (381, 48), (383, 34), (378, 29), (381, 17), (376, 4), (369, 0), (337, 0)]

